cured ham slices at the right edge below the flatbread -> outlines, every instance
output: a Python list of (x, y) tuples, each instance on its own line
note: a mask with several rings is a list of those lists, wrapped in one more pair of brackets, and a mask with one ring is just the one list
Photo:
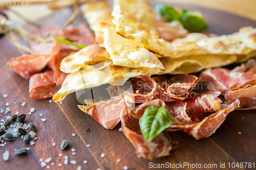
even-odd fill
[(256, 109), (256, 59), (229, 70), (207, 69), (199, 75), (208, 90), (221, 91), (229, 103), (240, 100), (239, 109)]

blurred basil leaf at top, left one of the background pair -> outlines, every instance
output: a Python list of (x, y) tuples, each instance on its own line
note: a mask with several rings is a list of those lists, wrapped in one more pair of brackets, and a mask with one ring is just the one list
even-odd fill
[(161, 15), (164, 19), (166, 19), (168, 22), (180, 19), (180, 15), (179, 15), (178, 11), (176, 11), (176, 9), (172, 6), (158, 4), (155, 7), (155, 11), (159, 15)]

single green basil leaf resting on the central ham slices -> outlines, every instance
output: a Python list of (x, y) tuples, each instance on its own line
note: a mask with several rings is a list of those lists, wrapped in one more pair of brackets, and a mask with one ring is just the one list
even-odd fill
[(174, 117), (163, 106), (146, 108), (139, 120), (141, 133), (147, 142), (153, 140), (162, 131), (174, 123)]

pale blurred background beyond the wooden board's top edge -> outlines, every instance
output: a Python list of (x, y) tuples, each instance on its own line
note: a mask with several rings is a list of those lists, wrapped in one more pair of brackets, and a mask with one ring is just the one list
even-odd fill
[[(0, 7), (2, 2), (11, 0), (0, 0)], [(19, 0), (16, 0), (18, 2)], [(22, 1), (22, 0), (20, 0)], [(8, 8), (14, 9), (30, 20), (37, 20), (51, 15), (54, 9), (58, 7), (65, 7), (72, 4), (75, 0), (24, 0), (24, 5), (10, 6)], [(77, 0), (79, 3), (96, 0)], [(232, 14), (240, 15), (256, 21), (256, 0), (159, 0), (153, 3), (165, 3), (170, 5), (182, 4), (188, 6), (199, 6), (210, 9), (221, 10)], [(5, 6), (3, 4), (3, 6)], [(24, 24), (17, 16), (11, 12), (7, 12), (11, 20), (17, 23)]]

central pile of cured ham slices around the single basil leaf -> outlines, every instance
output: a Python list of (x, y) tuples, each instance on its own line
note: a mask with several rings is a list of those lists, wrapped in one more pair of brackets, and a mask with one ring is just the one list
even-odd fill
[[(130, 82), (134, 94), (122, 97), (110, 90), (110, 100), (78, 107), (106, 129), (113, 129), (121, 120), (124, 135), (134, 145), (138, 155), (147, 159), (166, 156), (172, 150), (173, 142), (167, 131), (181, 130), (196, 139), (206, 138), (215, 133), (227, 114), (240, 104), (239, 100), (221, 104), (218, 98), (220, 91), (196, 94), (193, 92), (199, 82), (196, 76), (179, 75), (169, 80), (141, 75)], [(160, 133), (151, 142), (146, 142), (140, 130), (139, 119), (150, 106), (165, 107), (175, 118), (175, 122), (167, 131)]]

